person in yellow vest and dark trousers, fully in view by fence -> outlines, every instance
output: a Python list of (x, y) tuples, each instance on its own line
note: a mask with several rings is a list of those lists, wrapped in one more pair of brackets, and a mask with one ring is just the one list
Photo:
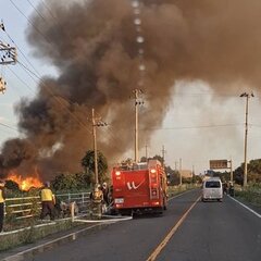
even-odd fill
[(51, 220), (54, 220), (54, 204), (55, 204), (55, 197), (50, 189), (50, 183), (47, 182), (45, 187), (40, 191), (40, 199), (41, 199), (41, 214), (40, 219), (44, 220), (48, 214), (50, 215)]

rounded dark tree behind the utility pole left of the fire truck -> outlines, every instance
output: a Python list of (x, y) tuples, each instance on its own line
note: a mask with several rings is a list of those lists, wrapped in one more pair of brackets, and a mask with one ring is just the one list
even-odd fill
[[(108, 162), (105, 157), (100, 152), (97, 151), (97, 163), (98, 163), (98, 179), (100, 183), (108, 181)], [(89, 178), (89, 181), (94, 184), (95, 183), (95, 151), (88, 150), (85, 157), (80, 161), (82, 166), (85, 170), (85, 174)]]

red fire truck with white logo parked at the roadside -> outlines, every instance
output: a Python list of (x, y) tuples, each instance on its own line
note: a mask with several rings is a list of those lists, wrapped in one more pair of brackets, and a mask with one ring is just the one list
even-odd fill
[(113, 167), (112, 185), (114, 210), (121, 214), (166, 209), (166, 175), (158, 160)]

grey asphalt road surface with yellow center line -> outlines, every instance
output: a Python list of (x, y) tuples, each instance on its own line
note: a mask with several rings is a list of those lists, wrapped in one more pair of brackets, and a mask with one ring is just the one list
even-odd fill
[(260, 261), (261, 219), (228, 197), (223, 202), (195, 203), (199, 196), (200, 190), (186, 192), (170, 200), (162, 216), (146, 215), (94, 229), (32, 260)]

